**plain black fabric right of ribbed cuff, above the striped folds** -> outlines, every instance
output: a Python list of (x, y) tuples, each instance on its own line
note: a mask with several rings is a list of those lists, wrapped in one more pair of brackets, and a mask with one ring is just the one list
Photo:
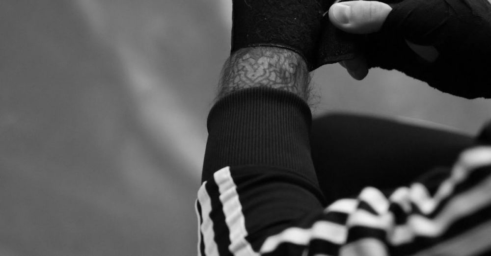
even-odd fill
[(451, 166), (471, 136), (355, 114), (313, 120), (312, 159), (327, 202), (366, 186), (391, 190), (437, 166)]

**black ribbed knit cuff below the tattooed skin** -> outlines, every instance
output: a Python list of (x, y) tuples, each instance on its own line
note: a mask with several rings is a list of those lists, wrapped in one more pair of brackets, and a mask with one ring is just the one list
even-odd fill
[(300, 97), (250, 88), (219, 100), (208, 115), (202, 180), (225, 166), (290, 169), (317, 184), (310, 155), (312, 116)]

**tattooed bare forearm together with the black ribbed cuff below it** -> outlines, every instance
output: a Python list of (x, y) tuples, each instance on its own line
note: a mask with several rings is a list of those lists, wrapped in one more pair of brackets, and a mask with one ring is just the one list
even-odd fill
[(236, 51), (225, 63), (208, 116), (203, 181), (226, 166), (268, 165), (317, 183), (310, 155), (309, 74), (295, 52)]

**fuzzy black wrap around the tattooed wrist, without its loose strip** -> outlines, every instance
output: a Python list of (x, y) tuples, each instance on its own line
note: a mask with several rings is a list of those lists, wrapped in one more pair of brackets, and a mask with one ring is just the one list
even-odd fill
[(317, 0), (233, 0), (232, 52), (254, 46), (287, 48), (312, 70), (322, 14)]

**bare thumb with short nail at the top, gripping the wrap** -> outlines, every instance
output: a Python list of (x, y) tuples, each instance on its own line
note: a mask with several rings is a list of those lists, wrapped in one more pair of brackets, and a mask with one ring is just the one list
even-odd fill
[(380, 30), (392, 7), (378, 1), (346, 1), (329, 8), (329, 20), (337, 28), (354, 34)]

